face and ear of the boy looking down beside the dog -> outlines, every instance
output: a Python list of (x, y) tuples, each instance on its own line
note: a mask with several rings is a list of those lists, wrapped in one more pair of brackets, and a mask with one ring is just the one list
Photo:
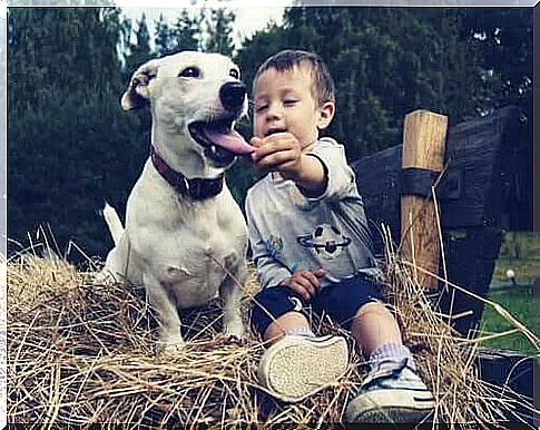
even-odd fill
[(265, 70), (255, 82), (255, 136), (291, 133), (302, 149), (318, 138), (334, 115), (332, 101), (318, 106), (312, 94), (312, 75), (307, 67), (292, 70)]

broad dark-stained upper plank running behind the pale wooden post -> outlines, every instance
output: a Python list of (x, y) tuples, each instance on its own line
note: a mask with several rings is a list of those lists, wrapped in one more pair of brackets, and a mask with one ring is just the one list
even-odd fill
[[(520, 229), (530, 224), (530, 212), (526, 218), (514, 214), (517, 208), (527, 208), (532, 202), (530, 173), (518, 167), (527, 160), (521, 159), (522, 154), (512, 153), (524, 136), (523, 127), (519, 109), (509, 106), (487, 118), (449, 128), (445, 158), (449, 167), (440, 188), (452, 188), (450, 183), (458, 177), (461, 190), (456, 198), (440, 198), (443, 229), (481, 225)], [(402, 146), (396, 145), (352, 164), (367, 217), (372, 225), (381, 222), (390, 225), (396, 242), (401, 152)]]

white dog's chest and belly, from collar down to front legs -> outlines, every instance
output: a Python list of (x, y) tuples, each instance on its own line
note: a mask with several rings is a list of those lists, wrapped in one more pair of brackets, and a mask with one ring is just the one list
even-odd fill
[(186, 202), (147, 165), (134, 187), (126, 218), (134, 264), (150, 272), (178, 307), (216, 296), (227, 272), (244, 264), (247, 227), (228, 188), (204, 202)]

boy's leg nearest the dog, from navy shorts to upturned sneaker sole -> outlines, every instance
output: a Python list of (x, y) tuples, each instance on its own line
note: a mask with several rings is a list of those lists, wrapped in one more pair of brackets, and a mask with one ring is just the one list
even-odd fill
[(258, 379), (274, 397), (300, 401), (345, 373), (348, 365), (345, 340), (316, 338), (303, 314), (306, 304), (293, 290), (266, 289), (254, 302), (252, 323), (272, 343), (261, 360)]

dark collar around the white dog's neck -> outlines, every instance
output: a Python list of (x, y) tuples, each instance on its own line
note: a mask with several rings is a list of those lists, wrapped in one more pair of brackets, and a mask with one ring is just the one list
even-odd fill
[(205, 198), (217, 196), (223, 190), (223, 175), (219, 175), (215, 179), (188, 179), (181, 173), (169, 167), (159, 154), (156, 153), (153, 145), (150, 145), (150, 158), (156, 170), (183, 196), (189, 196), (194, 201), (204, 201)]

